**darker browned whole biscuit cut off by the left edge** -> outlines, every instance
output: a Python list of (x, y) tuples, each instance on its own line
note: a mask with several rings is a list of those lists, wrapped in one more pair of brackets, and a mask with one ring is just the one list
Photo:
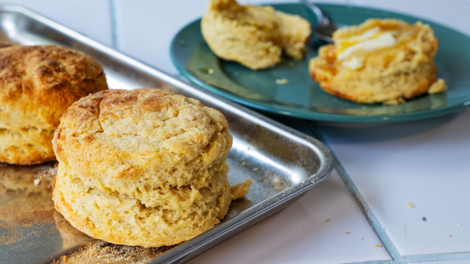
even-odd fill
[(102, 67), (60, 46), (0, 48), (0, 162), (55, 160), (59, 117), (89, 93), (108, 88)]

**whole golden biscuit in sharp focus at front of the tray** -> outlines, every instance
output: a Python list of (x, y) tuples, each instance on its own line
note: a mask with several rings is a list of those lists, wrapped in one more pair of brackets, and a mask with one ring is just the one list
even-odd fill
[(231, 202), (225, 116), (158, 89), (108, 90), (75, 102), (53, 140), (53, 200), (78, 230), (124, 245), (186, 241)]

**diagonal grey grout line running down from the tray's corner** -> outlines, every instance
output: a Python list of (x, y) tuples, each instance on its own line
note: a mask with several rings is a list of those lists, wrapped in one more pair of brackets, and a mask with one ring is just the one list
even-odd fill
[[(312, 129), (313, 134), (321, 142), (323, 142), (325, 145), (328, 146), (328, 143), (326, 142), (326, 139), (323, 136), (323, 134), (320, 132), (320, 130), (317, 129), (314, 125), (313, 126), (310, 125), (310, 127)], [(331, 148), (329, 148), (329, 149), (331, 150)], [(375, 215), (372, 213), (372, 210), (370, 209), (368, 204), (364, 201), (364, 199), (363, 199), (362, 195), (359, 193), (359, 190), (357, 189), (357, 187), (352, 183), (351, 178), (346, 173), (346, 171), (343, 168), (343, 166), (341, 165), (341, 163), (339, 163), (339, 160), (338, 160), (337, 156), (335, 155), (335, 153), (333, 152), (333, 150), (331, 150), (331, 154), (333, 155), (333, 158), (334, 158), (334, 168), (337, 170), (340, 178), (345, 183), (346, 188), (348, 189), (348, 191), (355, 198), (355, 200), (358, 203), (360, 209), (362, 210), (362, 212), (366, 216), (369, 224), (372, 225), (372, 228), (376, 232), (378, 238), (382, 241), (382, 244), (384, 244), (385, 249), (387, 250), (387, 252), (392, 257), (392, 260), (401, 262), (403, 257), (400, 255), (397, 248), (393, 244), (392, 240), (388, 237), (387, 233), (385, 233), (384, 228), (382, 227), (382, 225), (380, 225), (379, 221), (377, 220)]]

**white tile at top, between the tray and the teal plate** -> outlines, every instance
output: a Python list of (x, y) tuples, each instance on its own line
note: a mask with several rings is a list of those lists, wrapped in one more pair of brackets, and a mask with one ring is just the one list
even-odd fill
[[(116, 0), (119, 50), (160, 70), (177, 74), (170, 42), (183, 26), (200, 18), (208, 0)], [(285, 3), (294, 0), (240, 0), (240, 3)], [(327, 2), (346, 3), (346, 0)], [(136, 48), (138, 47), (138, 48)]]

